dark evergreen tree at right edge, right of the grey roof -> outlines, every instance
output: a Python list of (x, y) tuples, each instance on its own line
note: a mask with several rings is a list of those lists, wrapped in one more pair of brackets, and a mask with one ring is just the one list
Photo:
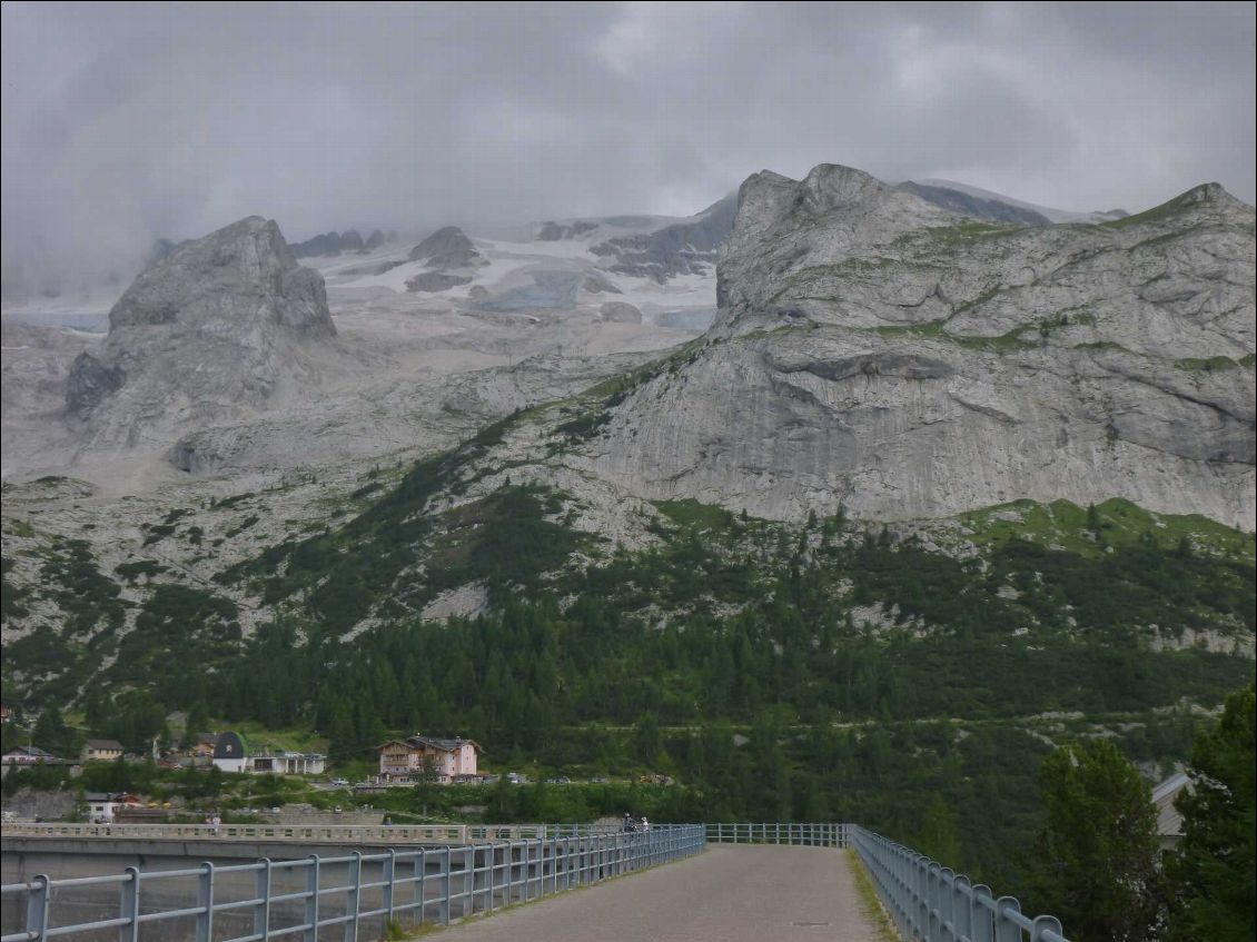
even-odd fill
[(1170, 923), (1174, 942), (1257, 938), (1257, 750), (1253, 745), (1254, 685), (1232, 693), (1218, 725), (1200, 734), (1192, 752), (1192, 789), (1183, 791), (1183, 844), (1169, 872), (1178, 899)]

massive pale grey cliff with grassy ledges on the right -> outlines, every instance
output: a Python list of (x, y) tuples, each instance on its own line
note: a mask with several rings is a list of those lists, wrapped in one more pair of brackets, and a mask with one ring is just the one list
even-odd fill
[(1253, 207), (991, 225), (856, 170), (739, 193), (706, 344), (620, 403), (590, 471), (773, 517), (1121, 496), (1254, 525)]

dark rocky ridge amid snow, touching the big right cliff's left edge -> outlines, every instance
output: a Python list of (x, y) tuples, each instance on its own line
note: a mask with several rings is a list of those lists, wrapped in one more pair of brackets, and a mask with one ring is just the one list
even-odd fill
[(733, 227), (737, 208), (737, 198), (727, 196), (691, 221), (608, 239), (590, 246), (590, 251), (603, 257), (603, 265), (611, 271), (649, 278), (659, 284), (676, 275), (701, 275), (715, 264), (716, 250)]

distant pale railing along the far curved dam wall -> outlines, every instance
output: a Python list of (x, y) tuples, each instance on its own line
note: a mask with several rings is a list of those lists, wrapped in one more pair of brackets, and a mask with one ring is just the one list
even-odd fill
[(123, 840), (236, 840), (302, 844), (471, 844), (539, 840), (546, 825), (475, 824), (5, 824), (6, 838), (113, 838)]

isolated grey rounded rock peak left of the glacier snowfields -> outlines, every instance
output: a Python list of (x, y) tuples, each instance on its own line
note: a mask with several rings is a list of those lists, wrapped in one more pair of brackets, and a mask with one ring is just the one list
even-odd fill
[(85, 443), (170, 443), (297, 392), (334, 337), (323, 278), (297, 264), (279, 226), (251, 216), (136, 278), (101, 352), (74, 362), (67, 414)]

